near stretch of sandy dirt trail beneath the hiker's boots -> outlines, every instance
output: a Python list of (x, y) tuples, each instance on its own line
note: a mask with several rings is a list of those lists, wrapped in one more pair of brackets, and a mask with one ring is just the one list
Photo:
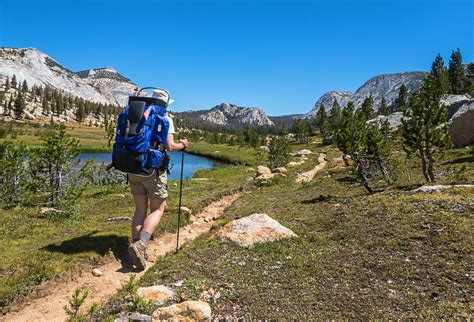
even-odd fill
[[(180, 244), (192, 241), (201, 234), (208, 232), (215, 220), (224, 213), (241, 193), (221, 198), (205, 207), (196, 215), (196, 220), (180, 229)], [(167, 233), (154, 241), (148, 247), (149, 262), (147, 269), (153, 265), (153, 259), (164, 256), (176, 248), (176, 233)], [(89, 298), (84, 305), (88, 308), (93, 302), (102, 304), (107, 301), (120, 287), (128, 281), (129, 275), (134, 273), (128, 264), (121, 259), (110, 256), (102, 266), (98, 267), (103, 275), (95, 277), (91, 274), (92, 266), (80, 272), (73, 273), (68, 281), (52, 282), (40, 291), (41, 297), (17, 304), (11, 307), (7, 315), (0, 317), (0, 321), (64, 321), (67, 316), (63, 306), (68, 303), (75, 289), (87, 289)], [(137, 273), (141, 277), (145, 271)]]

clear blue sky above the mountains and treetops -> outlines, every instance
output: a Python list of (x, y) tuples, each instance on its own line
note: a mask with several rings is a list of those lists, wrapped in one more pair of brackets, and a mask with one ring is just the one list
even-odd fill
[(71, 70), (113, 66), (168, 88), (174, 110), (221, 102), (307, 112), (329, 90), (473, 61), (474, 0), (0, 0), (0, 46), (36, 47)]

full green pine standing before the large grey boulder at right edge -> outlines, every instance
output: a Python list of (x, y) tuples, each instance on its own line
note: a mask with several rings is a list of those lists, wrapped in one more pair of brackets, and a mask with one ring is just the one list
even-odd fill
[(440, 104), (439, 82), (427, 78), (420, 93), (413, 94), (403, 111), (402, 140), (408, 156), (421, 160), (426, 181), (435, 180), (435, 153), (449, 147), (448, 110)]

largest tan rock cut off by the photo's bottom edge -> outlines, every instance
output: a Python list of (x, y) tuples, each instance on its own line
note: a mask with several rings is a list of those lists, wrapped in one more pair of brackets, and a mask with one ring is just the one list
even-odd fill
[(159, 308), (153, 313), (153, 318), (158, 320), (210, 320), (211, 307), (202, 301), (186, 301), (164, 308)]

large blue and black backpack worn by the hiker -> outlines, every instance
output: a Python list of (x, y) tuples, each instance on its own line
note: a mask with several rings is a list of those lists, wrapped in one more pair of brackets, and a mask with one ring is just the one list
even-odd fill
[(119, 115), (111, 166), (133, 174), (151, 174), (167, 168), (169, 157), (159, 147), (166, 144), (169, 121), (166, 108), (148, 98), (135, 97)]

